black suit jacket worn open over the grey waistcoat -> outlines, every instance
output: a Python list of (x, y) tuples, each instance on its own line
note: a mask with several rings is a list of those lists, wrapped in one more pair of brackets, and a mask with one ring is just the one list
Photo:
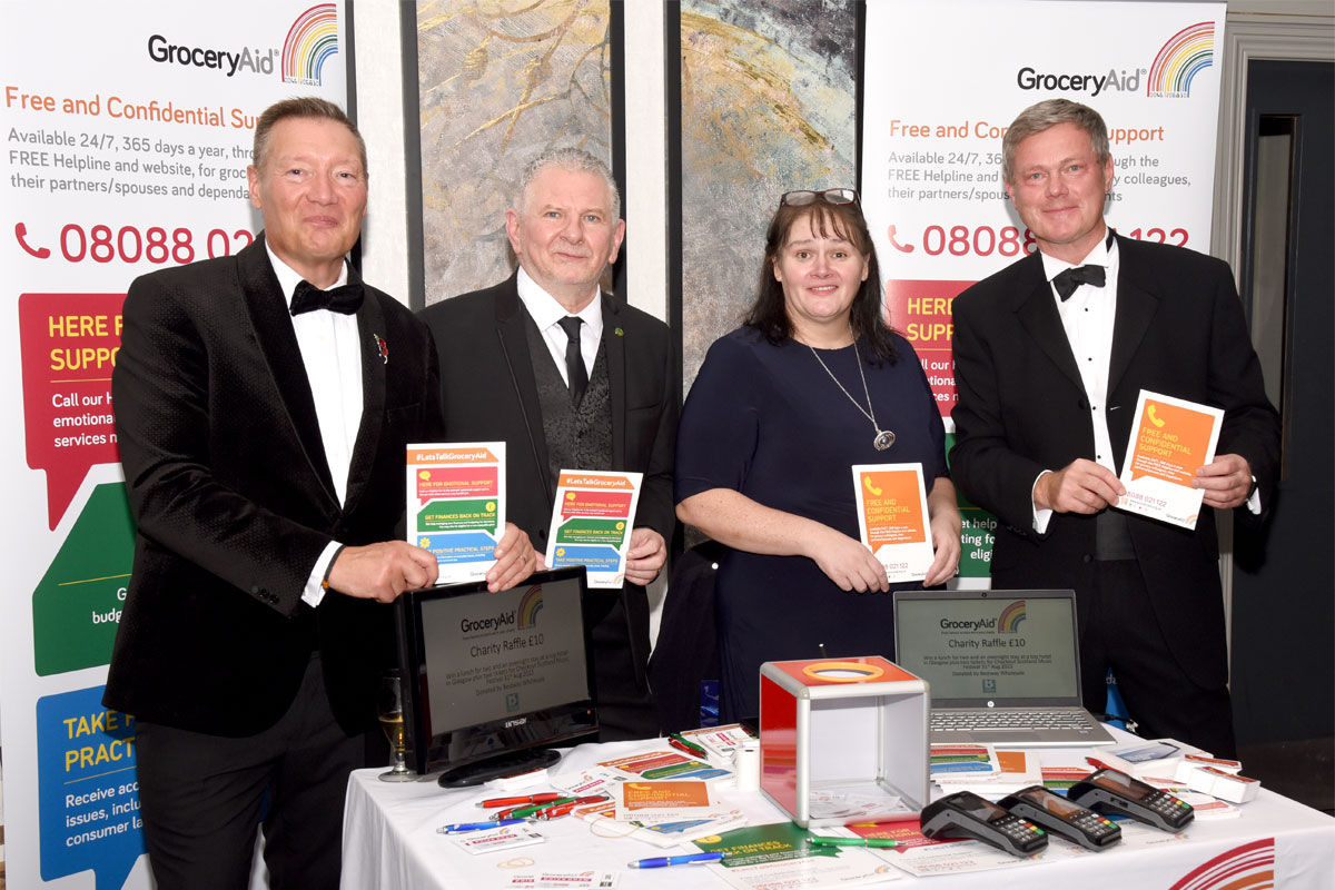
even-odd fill
[[(529, 532), (534, 547), (546, 550), (555, 480), (549, 478), (547, 442), (525, 334), (531, 322), (517, 280), (518, 272), (494, 287), (437, 303), (422, 312), (422, 320), (439, 350), (447, 439), (505, 440), (506, 518)], [(645, 474), (634, 524), (672, 542), (678, 412), (672, 332), (646, 312), (607, 295), (599, 299), (611, 388), (610, 470)], [(602, 592), (590, 598), (595, 620), (615, 604), (614, 596)], [(629, 590), (621, 592), (626, 620), (635, 624), (621, 635), (631, 647), (635, 681), (642, 686), (649, 659), (647, 610), (638, 588), (634, 595), (633, 602)], [(599, 686), (606, 685), (602, 677)]]

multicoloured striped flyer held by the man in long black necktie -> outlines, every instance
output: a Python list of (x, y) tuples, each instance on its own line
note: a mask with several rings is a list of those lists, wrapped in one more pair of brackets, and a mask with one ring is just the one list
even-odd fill
[(621, 587), (642, 472), (562, 470), (551, 506), (547, 568), (583, 566), (590, 587)]

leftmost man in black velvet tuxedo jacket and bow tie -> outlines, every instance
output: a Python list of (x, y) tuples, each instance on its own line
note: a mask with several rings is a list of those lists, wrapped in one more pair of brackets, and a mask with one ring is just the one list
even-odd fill
[[(266, 806), (271, 886), (338, 886), (347, 774), (392, 656), (384, 603), (437, 578), (394, 540), (405, 446), (439, 432), (435, 347), (344, 263), (362, 137), (336, 105), (287, 100), (248, 172), (264, 234), (135, 280), (112, 376), (138, 538), (104, 703), (138, 718), (163, 890), (248, 886)], [(535, 562), (515, 528), (502, 547), (497, 588)]]

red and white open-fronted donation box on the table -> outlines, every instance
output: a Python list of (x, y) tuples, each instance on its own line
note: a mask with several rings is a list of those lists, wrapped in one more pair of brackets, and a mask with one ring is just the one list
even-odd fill
[(930, 707), (926, 681), (880, 655), (765, 662), (761, 791), (804, 829), (916, 819)]

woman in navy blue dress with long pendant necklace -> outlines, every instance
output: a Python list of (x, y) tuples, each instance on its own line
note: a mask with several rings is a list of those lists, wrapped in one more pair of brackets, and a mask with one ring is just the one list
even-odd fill
[[(677, 516), (718, 568), (721, 717), (760, 711), (769, 660), (893, 658), (885, 568), (858, 539), (850, 467), (921, 463), (944, 583), (960, 559), (945, 435), (908, 342), (881, 320), (857, 193), (788, 192), (745, 326), (709, 350), (677, 434)], [(922, 584), (905, 584), (920, 587)]]

